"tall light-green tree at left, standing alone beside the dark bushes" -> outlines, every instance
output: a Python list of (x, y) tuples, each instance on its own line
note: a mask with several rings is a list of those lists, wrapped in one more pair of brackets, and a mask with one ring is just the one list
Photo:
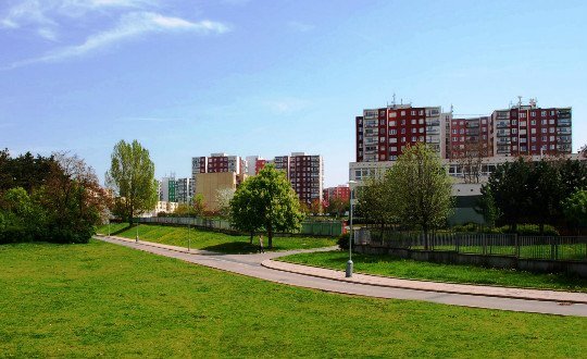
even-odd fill
[(118, 197), (122, 216), (130, 224), (133, 218), (152, 210), (158, 201), (158, 183), (149, 151), (135, 139), (121, 140), (114, 146), (111, 166), (105, 174), (107, 185)]

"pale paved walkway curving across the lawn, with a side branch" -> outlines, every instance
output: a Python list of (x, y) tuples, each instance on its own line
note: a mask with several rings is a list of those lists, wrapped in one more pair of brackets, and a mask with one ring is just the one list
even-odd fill
[(136, 243), (133, 239), (121, 237), (96, 236), (96, 238), (223, 271), (325, 292), (377, 298), (425, 300), (476, 308), (587, 317), (587, 294), (409, 281), (364, 274), (354, 274), (351, 278), (346, 278), (341, 271), (271, 260), (297, 252), (333, 250), (334, 247), (255, 255), (225, 255), (204, 250), (188, 252), (184, 247), (149, 242)]

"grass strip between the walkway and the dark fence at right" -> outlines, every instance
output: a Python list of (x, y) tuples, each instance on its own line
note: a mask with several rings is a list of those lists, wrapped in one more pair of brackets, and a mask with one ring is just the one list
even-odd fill
[[(286, 262), (345, 270), (349, 253), (327, 251), (300, 253), (278, 258)], [(564, 274), (535, 274), (515, 270), (488, 269), (474, 265), (440, 264), (398, 259), (391, 256), (353, 255), (354, 270), (366, 274), (427, 280), (437, 282), (474, 283), (509, 287), (587, 292), (587, 280)]]

